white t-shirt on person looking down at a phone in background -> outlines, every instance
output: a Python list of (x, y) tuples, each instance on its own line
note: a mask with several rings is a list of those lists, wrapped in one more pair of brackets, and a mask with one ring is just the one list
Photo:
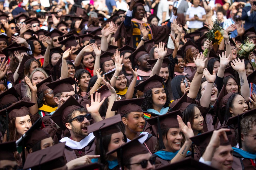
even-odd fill
[[(189, 18), (193, 18), (195, 15), (198, 16), (199, 19), (202, 18), (203, 15), (206, 15), (205, 9), (198, 6), (198, 7), (191, 7), (187, 9), (186, 15), (189, 16)], [(188, 28), (202, 28), (204, 27), (204, 24), (202, 21), (189, 21)]]

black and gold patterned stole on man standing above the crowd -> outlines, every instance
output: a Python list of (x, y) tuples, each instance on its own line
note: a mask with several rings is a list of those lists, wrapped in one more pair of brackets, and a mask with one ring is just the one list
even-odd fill
[[(151, 40), (153, 38), (153, 35), (152, 35), (152, 29), (150, 27), (150, 24), (143, 23), (143, 25), (146, 27), (146, 29), (149, 29), (148, 38), (149, 40)], [(140, 23), (132, 21), (132, 26), (133, 26), (133, 31), (132, 31), (133, 47), (136, 48), (141, 41)]]

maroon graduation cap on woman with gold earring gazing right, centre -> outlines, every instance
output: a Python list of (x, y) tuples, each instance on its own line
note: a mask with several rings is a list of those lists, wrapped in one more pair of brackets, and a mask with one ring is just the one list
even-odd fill
[(141, 105), (144, 98), (116, 100), (111, 111), (117, 111), (121, 116), (131, 112), (142, 112)]

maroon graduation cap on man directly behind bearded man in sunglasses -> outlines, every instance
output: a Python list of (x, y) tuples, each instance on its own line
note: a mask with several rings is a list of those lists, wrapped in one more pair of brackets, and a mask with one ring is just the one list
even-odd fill
[(72, 85), (75, 83), (76, 81), (72, 79), (72, 77), (68, 77), (66, 79), (61, 79), (55, 82), (47, 83), (46, 86), (53, 90), (53, 94), (55, 96), (58, 93), (74, 91)]

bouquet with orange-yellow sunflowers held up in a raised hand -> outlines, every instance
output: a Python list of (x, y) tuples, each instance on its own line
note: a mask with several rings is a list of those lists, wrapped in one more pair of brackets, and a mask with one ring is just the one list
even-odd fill
[[(205, 34), (207, 39), (211, 42), (212, 45), (218, 44), (220, 45), (221, 41), (223, 40), (224, 30), (221, 26), (221, 21), (215, 20), (213, 23), (212, 29)], [(208, 48), (205, 49), (203, 55), (206, 56), (208, 53)]]

